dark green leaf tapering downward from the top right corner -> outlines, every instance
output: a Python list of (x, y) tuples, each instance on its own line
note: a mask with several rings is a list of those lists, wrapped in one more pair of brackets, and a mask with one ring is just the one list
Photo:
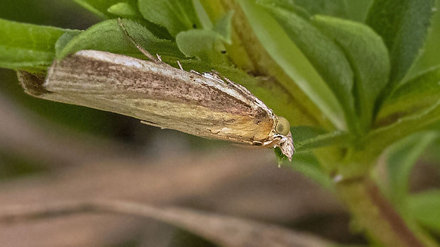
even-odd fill
[(427, 38), (434, 0), (375, 0), (367, 23), (390, 51), (390, 91), (412, 67)]

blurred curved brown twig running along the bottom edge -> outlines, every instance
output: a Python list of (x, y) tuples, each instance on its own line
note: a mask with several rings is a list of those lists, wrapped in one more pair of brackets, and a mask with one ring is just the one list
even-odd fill
[(17, 205), (0, 209), (0, 222), (26, 222), (80, 213), (114, 213), (148, 217), (192, 231), (221, 246), (304, 246), (321, 247), (330, 243), (307, 234), (216, 214), (177, 207), (153, 207), (119, 200), (84, 200)]

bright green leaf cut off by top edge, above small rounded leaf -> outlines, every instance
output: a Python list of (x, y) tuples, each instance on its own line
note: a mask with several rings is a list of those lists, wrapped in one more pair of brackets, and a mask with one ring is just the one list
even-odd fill
[(73, 0), (77, 2), (77, 4), (83, 6), (84, 8), (87, 8), (87, 10), (91, 11), (92, 13), (95, 13), (97, 16), (108, 19), (108, 18), (115, 18), (118, 15), (115, 13), (111, 13), (107, 11), (111, 6), (114, 6), (115, 4), (119, 4), (123, 2), (124, 4), (127, 4), (128, 6), (131, 6), (133, 9), (136, 9), (137, 6), (137, 0)]

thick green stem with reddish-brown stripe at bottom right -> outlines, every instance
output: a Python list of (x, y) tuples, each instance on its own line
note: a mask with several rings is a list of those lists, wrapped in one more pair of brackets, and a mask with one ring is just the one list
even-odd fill
[(424, 238), (421, 238), (424, 239), (424, 243), (417, 238), (400, 214), (383, 197), (373, 180), (343, 180), (336, 184), (336, 191), (350, 209), (356, 223), (368, 236), (383, 246), (436, 246)]

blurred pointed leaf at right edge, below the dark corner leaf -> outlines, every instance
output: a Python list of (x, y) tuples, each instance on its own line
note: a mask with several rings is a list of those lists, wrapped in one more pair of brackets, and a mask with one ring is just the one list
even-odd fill
[(440, 67), (435, 67), (398, 87), (380, 109), (378, 124), (430, 108), (440, 98), (439, 81)]

